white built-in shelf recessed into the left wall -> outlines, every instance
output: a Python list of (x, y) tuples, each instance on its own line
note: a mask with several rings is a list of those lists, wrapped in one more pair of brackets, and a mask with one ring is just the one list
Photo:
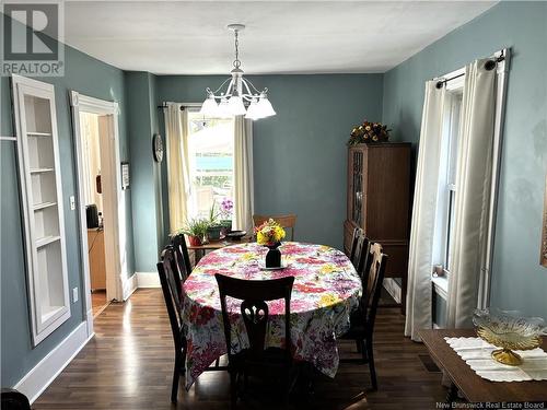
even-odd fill
[(51, 84), (12, 77), (33, 345), (70, 317), (61, 171)]

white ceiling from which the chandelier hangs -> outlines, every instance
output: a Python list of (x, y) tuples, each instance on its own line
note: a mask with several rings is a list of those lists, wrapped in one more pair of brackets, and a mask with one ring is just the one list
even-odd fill
[(243, 23), (247, 73), (384, 72), (489, 1), (70, 1), (67, 44), (124, 70), (224, 74)]

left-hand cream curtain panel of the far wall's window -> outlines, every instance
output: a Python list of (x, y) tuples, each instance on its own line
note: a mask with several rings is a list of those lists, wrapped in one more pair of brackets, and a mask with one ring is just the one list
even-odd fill
[(168, 103), (165, 109), (170, 232), (183, 227), (188, 215), (188, 113), (181, 104)]

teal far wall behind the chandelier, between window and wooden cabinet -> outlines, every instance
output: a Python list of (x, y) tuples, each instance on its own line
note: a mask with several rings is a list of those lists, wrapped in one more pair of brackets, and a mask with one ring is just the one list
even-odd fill
[[(277, 115), (254, 122), (256, 213), (296, 213), (296, 238), (341, 248), (346, 142), (382, 117), (382, 74), (256, 75)], [(201, 103), (225, 77), (158, 77), (158, 102)], [(166, 194), (165, 194), (166, 195)]]

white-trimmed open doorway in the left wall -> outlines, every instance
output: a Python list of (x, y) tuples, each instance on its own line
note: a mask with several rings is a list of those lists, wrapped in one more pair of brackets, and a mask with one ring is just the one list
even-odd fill
[[(70, 93), (78, 174), (78, 213), (88, 333), (112, 301), (124, 300), (125, 196), (117, 103)], [(120, 234), (124, 233), (124, 234)]]

